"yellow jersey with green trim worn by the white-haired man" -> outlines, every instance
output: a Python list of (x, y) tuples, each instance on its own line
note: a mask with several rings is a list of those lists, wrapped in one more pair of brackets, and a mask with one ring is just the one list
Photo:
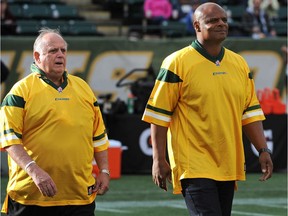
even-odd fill
[(25, 205), (89, 204), (96, 196), (91, 194), (94, 152), (109, 145), (96, 97), (79, 77), (65, 72), (57, 87), (36, 65), (31, 71), (3, 100), (1, 147), (23, 145), (58, 192), (53, 198), (41, 195), (32, 178), (8, 157), (7, 194)]

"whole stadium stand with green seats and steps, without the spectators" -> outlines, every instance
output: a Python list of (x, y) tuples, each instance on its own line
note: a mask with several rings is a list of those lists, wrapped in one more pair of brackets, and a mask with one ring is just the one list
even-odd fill
[[(181, 5), (189, 0), (179, 0)], [(241, 28), (246, 6), (237, 1), (218, 1), (231, 12), (230, 30)], [(239, 1), (240, 2), (240, 1)], [(160, 28), (160, 37), (184, 37), (184, 26), (171, 20), (164, 25), (148, 26), (143, 13), (144, 0), (8, 0), (17, 19), (17, 34), (35, 34), (42, 26), (58, 27), (64, 35), (129, 36), (130, 33), (149, 34)], [(279, 10), (275, 22), (278, 36), (287, 36), (287, 4)], [(36, 32), (37, 33), (37, 32)]]

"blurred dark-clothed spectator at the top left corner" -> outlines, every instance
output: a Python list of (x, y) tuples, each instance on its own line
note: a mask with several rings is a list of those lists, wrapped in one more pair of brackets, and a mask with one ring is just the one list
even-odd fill
[(10, 12), (7, 0), (0, 0), (1, 3), (1, 35), (16, 34), (16, 19)]

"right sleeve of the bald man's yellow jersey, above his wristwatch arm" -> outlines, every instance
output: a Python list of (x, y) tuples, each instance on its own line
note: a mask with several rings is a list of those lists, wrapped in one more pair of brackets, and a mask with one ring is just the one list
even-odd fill
[(264, 113), (256, 95), (252, 72), (250, 72), (246, 62), (244, 62), (244, 65), (245, 70), (247, 71), (247, 94), (246, 106), (242, 116), (242, 125), (265, 120)]

